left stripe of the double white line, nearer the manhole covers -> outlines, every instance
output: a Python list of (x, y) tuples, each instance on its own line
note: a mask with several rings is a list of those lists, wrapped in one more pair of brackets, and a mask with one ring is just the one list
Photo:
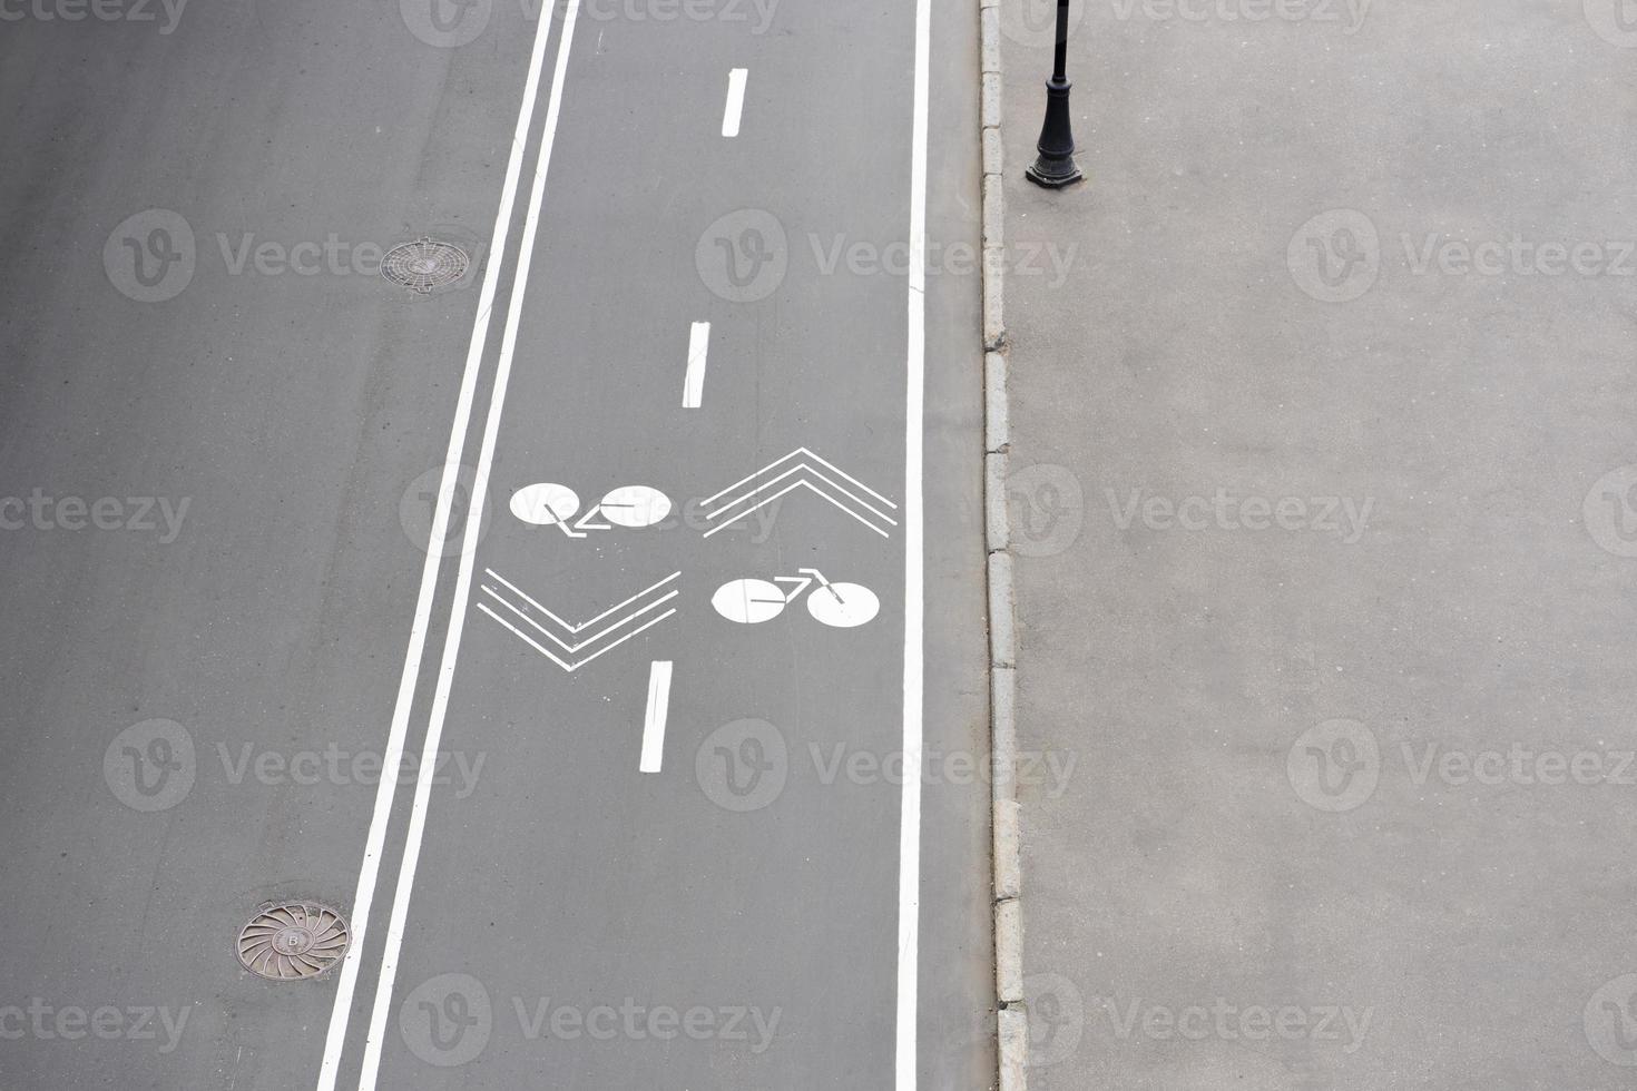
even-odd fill
[[(386, 733), (386, 749), (383, 752), (383, 769), (398, 769), (404, 752), (404, 736), (409, 728), (409, 710), (414, 705), (416, 682), (421, 677), (421, 661), (426, 651), (426, 635), (432, 615), (432, 600), (437, 594), (437, 572), (444, 559), (445, 537), (449, 535), (450, 509), (455, 501), (455, 484), (460, 473), (460, 460), (465, 453), (467, 429), (471, 425), (471, 404), (478, 388), (478, 371), (483, 368), (483, 350), (488, 343), (489, 314), (494, 309), (494, 293), (499, 286), (501, 272), (506, 267), (506, 245), (511, 234), (512, 206), (517, 196), (517, 182), (522, 175), (524, 147), (529, 142), (529, 129), (534, 124), (534, 106), (539, 97), (540, 72), (545, 67), (545, 41), (550, 20), (540, 20), (534, 36), (534, 52), (529, 57), (529, 75), (524, 82), (522, 105), (517, 108), (517, 128), (512, 131), (511, 155), (506, 160), (506, 178), (501, 185), (501, 203), (494, 213), (494, 231), (489, 236), (491, 262), (483, 273), (483, 286), (478, 291), (478, 312), (471, 322), (471, 342), (467, 347), (467, 366), (460, 378), (460, 393), (455, 399), (455, 422), (449, 435), (449, 450), (444, 455), (444, 474), (437, 486), (437, 507), (432, 512), (432, 533), (427, 540), (426, 564), (421, 568), (421, 590), (416, 597), (414, 620), (409, 625), (409, 646), (404, 651), (404, 667), (398, 679), (398, 698), (393, 705), (393, 720)], [(334, 1091), (336, 1075), (340, 1066), (340, 1053), (347, 1042), (347, 1022), (352, 1016), (352, 996), (359, 983), (359, 959), (363, 954), (363, 941), (370, 924), (370, 906), (375, 900), (375, 883), (380, 875), (381, 849), (386, 844), (386, 828), (393, 813), (393, 795), (398, 788), (398, 777), (381, 777), (375, 790), (375, 810), (370, 815), (370, 829), (363, 841), (363, 862), (359, 867), (359, 887), (352, 895), (352, 908), (347, 919), (352, 923), (352, 944), (340, 963), (340, 975), (336, 981), (336, 1001), (329, 1012), (329, 1030), (324, 1035), (324, 1060), (319, 1065), (318, 1091)]]

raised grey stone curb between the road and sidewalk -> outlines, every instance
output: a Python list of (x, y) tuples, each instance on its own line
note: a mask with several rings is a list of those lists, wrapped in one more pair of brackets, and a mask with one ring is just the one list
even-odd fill
[(984, 551), (989, 579), (990, 852), (995, 927), (995, 1066), (1000, 1091), (1028, 1088), (1023, 1001), (1023, 862), (1017, 801), (1017, 623), (1007, 460), (1005, 157), (1000, 141), (1000, 0), (979, 0), (984, 245)]

